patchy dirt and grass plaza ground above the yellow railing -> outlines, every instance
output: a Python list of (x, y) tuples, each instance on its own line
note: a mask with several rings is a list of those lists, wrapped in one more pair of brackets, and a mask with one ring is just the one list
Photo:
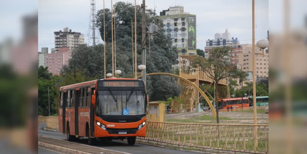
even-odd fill
[[(243, 111), (219, 112), (220, 124), (253, 124), (254, 114)], [(181, 112), (166, 114), (167, 122), (183, 122), (183, 123), (216, 123), (216, 119), (212, 117), (211, 111), (205, 112)], [(257, 113), (258, 124), (269, 124), (269, 114)]]

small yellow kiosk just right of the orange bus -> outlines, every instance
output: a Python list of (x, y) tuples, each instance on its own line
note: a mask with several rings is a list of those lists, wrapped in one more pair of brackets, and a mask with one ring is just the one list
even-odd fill
[(165, 104), (159, 102), (148, 103), (148, 121), (165, 122)]

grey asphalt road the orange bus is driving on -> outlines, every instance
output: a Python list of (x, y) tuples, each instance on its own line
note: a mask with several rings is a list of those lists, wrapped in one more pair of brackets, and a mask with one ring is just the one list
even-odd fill
[[(66, 140), (66, 136), (60, 132), (50, 132), (44, 131), (43, 128), (46, 125), (38, 125), (38, 136), (45, 136), (50, 137), (53, 139), (58, 140)], [(79, 144), (87, 144), (87, 138), (80, 139)], [(115, 150), (119, 152), (127, 152), (131, 154), (199, 154), (199, 152), (191, 152), (191, 151), (182, 151), (182, 150), (175, 150), (175, 149), (167, 149), (167, 148), (160, 148), (150, 145), (144, 144), (135, 144), (134, 146), (129, 146), (125, 141), (113, 140), (108, 142), (106, 145), (98, 144), (95, 145), (98, 148), (104, 148), (108, 150)]]

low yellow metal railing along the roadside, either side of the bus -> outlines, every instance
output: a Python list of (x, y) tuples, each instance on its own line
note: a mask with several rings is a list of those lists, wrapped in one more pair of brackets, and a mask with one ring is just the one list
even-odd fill
[[(58, 129), (58, 117), (38, 117), (39, 123)], [(232, 152), (269, 153), (269, 125), (247, 124), (185, 124), (147, 122), (147, 137), (165, 146), (225, 150)], [(254, 128), (257, 128), (257, 145), (254, 146)]]

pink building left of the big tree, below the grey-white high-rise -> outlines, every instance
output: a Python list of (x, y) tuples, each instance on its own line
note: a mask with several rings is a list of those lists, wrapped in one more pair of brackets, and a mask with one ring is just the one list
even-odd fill
[(57, 53), (46, 54), (46, 67), (53, 75), (60, 74), (64, 65), (68, 65), (68, 60), (71, 58), (69, 47), (59, 47)]

